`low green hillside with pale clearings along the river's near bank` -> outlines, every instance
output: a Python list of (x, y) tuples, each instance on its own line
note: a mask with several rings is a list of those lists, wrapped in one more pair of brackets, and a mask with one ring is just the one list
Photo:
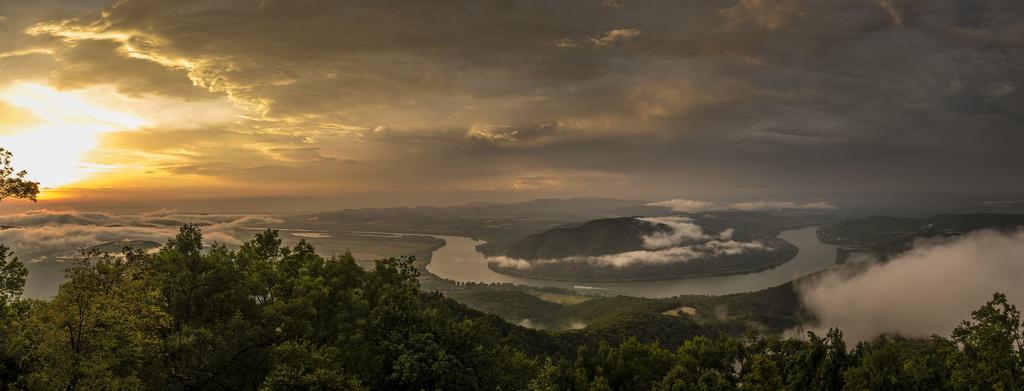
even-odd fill
[[(674, 344), (694, 335), (780, 334), (808, 321), (796, 283), (726, 296), (685, 295), (664, 299), (588, 296), (557, 288), (467, 284), (438, 289), (474, 309), (505, 320), (563, 335), (637, 337)], [(680, 311), (686, 309), (688, 312)], [(630, 331), (623, 336), (623, 331)], [(616, 340), (621, 342), (621, 340)]]

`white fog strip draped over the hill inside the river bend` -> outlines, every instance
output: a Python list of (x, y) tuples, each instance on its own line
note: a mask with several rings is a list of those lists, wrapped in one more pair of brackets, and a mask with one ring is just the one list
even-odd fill
[(580, 262), (597, 266), (627, 267), (635, 264), (668, 264), (688, 262), (698, 258), (722, 255), (738, 255), (749, 251), (771, 250), (762, 242), (737, 242), (732, 240), (733, 229), (711, 235), (686, 217), (640, 218), (652, 224), (665, 224), (671, 229), (657, 231), (641, 237), (647, 250), (629, 251), (602, 256), (572, 256), (560, 259), (527, 261), (511, 257), (492, 257), (487, 260), (502, 267), (528, 269), (538, 265)]

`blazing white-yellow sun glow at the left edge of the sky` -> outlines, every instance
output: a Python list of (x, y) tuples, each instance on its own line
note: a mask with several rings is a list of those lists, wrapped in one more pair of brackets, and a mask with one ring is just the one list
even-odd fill
[[(0, 147), (14, 154), (15, 167), (44, 188), (57, 188), (114, 167), (90, 164), (102, 133), (135, 129), (146, 122), (104, 107), (88, 91), (58, 91), (34, 83), (0, 90)], [(6, 106), (6, 107), (4, 107)]]

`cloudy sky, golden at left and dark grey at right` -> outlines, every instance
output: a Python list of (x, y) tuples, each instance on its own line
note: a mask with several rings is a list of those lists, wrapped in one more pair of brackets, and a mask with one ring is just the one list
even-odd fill
[(1014, 202), (1022, 89), (1019, 0), (0, 0), (47, 208)]

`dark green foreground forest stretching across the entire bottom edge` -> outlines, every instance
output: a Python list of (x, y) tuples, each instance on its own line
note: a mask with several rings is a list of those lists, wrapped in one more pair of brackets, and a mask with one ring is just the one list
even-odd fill
[[(1020, 314), (996, 295), (950, 338), (847, 350), (801, 339), (677, 343), (515, 327), (422, 292), (411, 260), (239, 250), (185, 226), (159, 252), (85, 252), (47, 301), (0, 249), (0, 388), (29, 390), (936, 390), (1024, 387)], [(662, 333), (685, 334), (686, 330)], [(629, 336), (632, 330), (617, 334)]]

